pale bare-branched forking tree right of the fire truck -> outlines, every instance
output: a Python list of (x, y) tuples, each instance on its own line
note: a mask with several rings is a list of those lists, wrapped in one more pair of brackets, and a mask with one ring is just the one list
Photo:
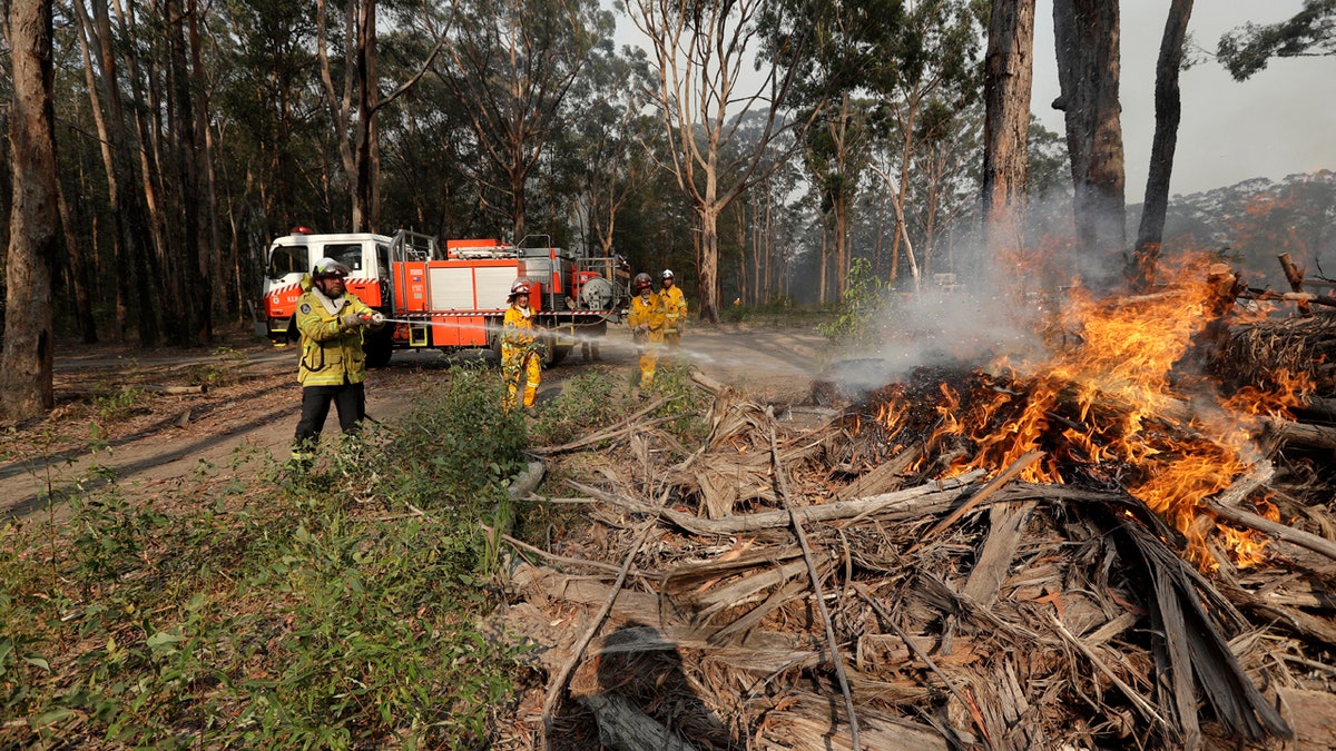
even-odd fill
[[(627, 0), (645, 36), (655, 86), (651, 102), (668, 142), (663, 167), (688, 198), (700, 230), (696, 278), (700, 317), (719, 321), (719, 218), (752, 184), (766, 148), (802, 122), (783, 116), (799, 71), (810, 63), (815, 3), (770, 0)], [(776, 51), (745, 84), (756, 47)], [(747, 115), (763, 115), (760, 136), (728, 155)]]

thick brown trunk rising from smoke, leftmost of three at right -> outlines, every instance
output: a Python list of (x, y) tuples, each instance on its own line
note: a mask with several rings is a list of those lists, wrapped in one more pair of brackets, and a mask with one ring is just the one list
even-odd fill
[(989, 262), (1025, 245), (1033, 49), (1034, 0), (994, 0), (983, 63), (982, 204)]

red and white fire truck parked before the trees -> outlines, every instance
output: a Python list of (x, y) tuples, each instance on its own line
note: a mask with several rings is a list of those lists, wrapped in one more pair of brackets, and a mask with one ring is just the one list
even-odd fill
[(257, 333), (275, 343), (290, 339), (302, 277), (321, 258), (346, 266), (349, 291), (390, 319), (385, 329), (367, 331), (363, 350), (371, 367), (386, 365), (401, 349), (500, 353), (506, 295), (517, 279), (529, 283), (545, 365), (561, 362), (576, 343), (597, 346), (629, 301), (628, 274), (619, 259), (577, 258), (553, 247), (548, 235), (530, 235), (518, 245), (456, 239), (442, 249), (437, 238), (407, 230), (314, 234), (295, 227), (269, 247)]

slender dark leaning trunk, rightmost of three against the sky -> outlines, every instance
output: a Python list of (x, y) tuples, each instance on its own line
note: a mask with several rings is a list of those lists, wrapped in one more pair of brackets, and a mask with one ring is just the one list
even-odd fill
[(1165, 33), (1160, 40), (1160, 59), (1156, 61), (1156, 136), (1150, 143), (1150, 172), (1146, 175), (1146, 200), (1141, 210), (1137, 231), (1137, 267), (1132, 283), (1136, 289), (1149, 287), (1154, 281), (1160, 261), (1160, 242), (1169, 211), (1169, 176), (1173, 174), (1173, 155), (1178, 146), (1178, 119), (1182, 100), (1178, 95), (1178, 71), (1182, 68), (1182, 47), (1188, 37), (1188, 19), (1192, 0), (1173, 0)]

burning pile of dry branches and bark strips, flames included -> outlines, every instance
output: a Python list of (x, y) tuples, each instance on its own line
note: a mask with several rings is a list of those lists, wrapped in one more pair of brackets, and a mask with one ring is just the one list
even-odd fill
[(1220, 289), (1077, 298), (1042, 362), (815, 422), (701, 378), (707, 445), (628, 426), (564, 498), (593, 532), (516, 569), (521, 719), (552, 748), (1336, 742), (1332, 378), (1288, 354), (1328, 343)]

